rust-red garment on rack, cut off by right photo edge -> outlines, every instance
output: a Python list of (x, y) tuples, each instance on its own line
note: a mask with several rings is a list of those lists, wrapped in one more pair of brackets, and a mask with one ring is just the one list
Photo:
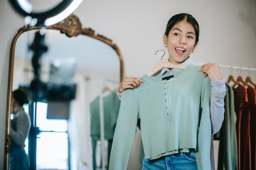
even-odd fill
[(250, 139), (251, 139), (251, 159), (252, 170), (256, 170), (256, 90), (252, 86), (247, 88), (248, 104), (250, 111)]

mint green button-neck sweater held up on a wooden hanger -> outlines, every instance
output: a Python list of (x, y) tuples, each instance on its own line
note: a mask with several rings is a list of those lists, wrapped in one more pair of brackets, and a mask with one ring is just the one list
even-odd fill
[[(198, 170), (210, 170), (210, 79), (200, 66), (163, 76), (142, 76), (140, 88), (127, 89), (110, 155), (110, 170), (125, 170), (136, 137), (137, 119), (146, 159), (196, 150)], [(162, 80), (173, 75), (170, 80)], [(202, 112), (200, 114), (200, 112)]]

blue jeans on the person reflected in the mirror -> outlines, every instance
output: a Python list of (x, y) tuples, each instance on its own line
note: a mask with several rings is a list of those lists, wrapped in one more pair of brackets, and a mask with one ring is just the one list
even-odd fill
[(29, 170), (30, 161), (25, 150), (18, 146), (10, 147), (9, 170)]

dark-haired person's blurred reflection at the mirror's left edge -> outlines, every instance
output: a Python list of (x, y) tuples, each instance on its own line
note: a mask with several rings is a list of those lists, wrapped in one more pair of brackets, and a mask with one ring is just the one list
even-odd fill
[(28, 104), (29, 98), (26, 91), (18, 89), (12, 92), (12, 114), (10, 132), (10, 170), (29, 170), (30, 161), (28, 154), (26, 154), (25, 140), (28, 137), (31, 121), (29, 115), (22, 107)]

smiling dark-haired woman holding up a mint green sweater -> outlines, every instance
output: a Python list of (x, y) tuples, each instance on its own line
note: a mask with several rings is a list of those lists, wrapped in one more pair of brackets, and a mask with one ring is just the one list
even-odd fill
[(198, 38), (199, 25), (191, 15), (173, 16), (164, 46), (169, 62), (186, 65), (185, 70), (164, 68), (157, 76), (126, 76), (121, 82), (111, 170), (126, 169), (137, 119), (145, 152), (143, 170), (210, 170), (210, 136), (222, 126), (226, 88), (218, 64), (192, 64), (189, 55)]

